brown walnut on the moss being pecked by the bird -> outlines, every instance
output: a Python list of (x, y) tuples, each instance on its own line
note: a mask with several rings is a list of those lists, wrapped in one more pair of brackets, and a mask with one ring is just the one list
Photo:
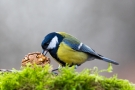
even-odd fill
[(28, 53), (28, 55), (22, 59), (22, 66), (26, 66), (27, 63), (45, 66), (46, 64), (50, 64), (50, 58), (40, 52)]

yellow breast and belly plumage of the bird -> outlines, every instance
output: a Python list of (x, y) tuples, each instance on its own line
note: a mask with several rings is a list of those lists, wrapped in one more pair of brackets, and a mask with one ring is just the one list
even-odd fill
[(67, 64), (82, 64), (88, 59), (88, 54), (78, 52), (62, 42), (58, 48), (57, 56)]

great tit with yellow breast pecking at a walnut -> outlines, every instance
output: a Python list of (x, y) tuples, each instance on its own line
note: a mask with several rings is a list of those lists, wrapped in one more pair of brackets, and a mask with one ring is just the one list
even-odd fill
[(66, 64), (79, 66), (85, 61), (94, 59), (103, 60), (115, 65), (119, 64), (114, 60), (96, 53), (92, 48), (65, 32), (49, 33), (45, 36), (41, 46), (44, 55), (49, 52), (62, 66)]

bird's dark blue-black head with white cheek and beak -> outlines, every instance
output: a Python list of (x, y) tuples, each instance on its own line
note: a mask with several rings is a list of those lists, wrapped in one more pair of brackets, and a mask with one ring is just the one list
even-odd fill
[(48, 51), (58, 47), (59, 43), (62, 41), (63, 36), (59, 33), (52, 32), (45, 36), (44, 40), (41, 43), (43, 52), (42, 54), (46, 55)]

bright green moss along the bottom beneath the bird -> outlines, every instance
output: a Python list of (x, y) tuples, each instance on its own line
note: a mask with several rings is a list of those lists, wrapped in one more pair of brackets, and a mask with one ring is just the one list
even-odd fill
[(46, 65), (25, 67), (12, 73), (0, 73), (0, 90), (135, 90), (128, 80), (118, 79), (116, 75), (107, 78), (99, 75), (107, 70), (84, 69), (78, 73), (74, 67), (64, 67), (55, 75), (50, 72), (52, 67)]

